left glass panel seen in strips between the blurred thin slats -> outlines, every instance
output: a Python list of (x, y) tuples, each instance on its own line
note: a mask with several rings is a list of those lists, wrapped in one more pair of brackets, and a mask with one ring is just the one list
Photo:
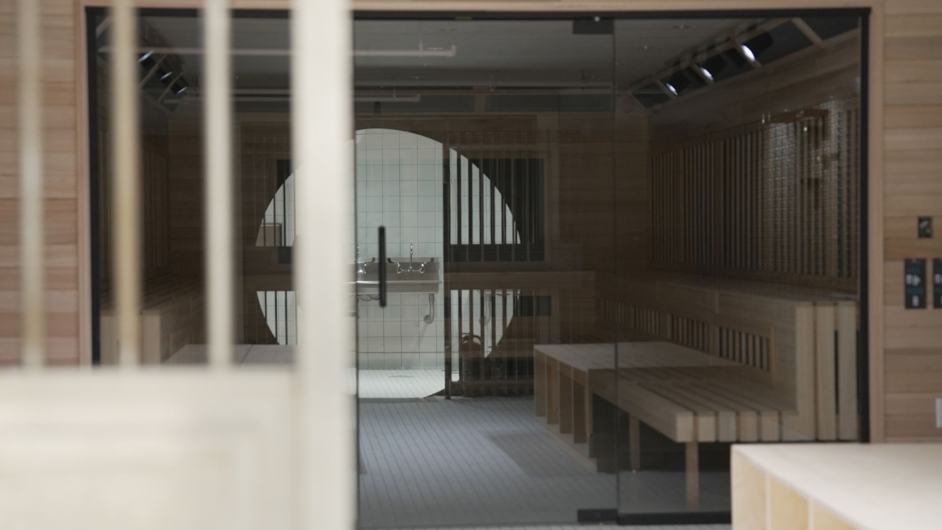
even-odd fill
[[(235, 11), (235, 362), (290, 363), (297, 342), (292, 282), (293, 170), (288, 19)], [(142, 360), (203, 363), (203, 21), (196, 10), (139, 11), (144, 296)], [(98, 352), (115, 361), (110, 308), (111, 174), (106, 11), (89, 18), (93, 181), (97, 186)]]

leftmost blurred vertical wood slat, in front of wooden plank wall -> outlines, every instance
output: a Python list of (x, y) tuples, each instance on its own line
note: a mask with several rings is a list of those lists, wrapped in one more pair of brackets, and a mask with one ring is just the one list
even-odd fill
[(42, 47), (41, 5), (20, 0), (19, 45), (20, 111), (20, 278), (23, 310), (23, 365), (40, 367), (45, 335), (42, 246)]

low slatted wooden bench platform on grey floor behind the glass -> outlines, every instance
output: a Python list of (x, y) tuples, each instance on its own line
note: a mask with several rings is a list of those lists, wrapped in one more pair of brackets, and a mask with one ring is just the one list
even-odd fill
[(750, 368), (673, 342), (537, 345), (533, 356), (535, 414), (580, 454), (600, 456), (593, 395), (626, 413), (632, 470), (641, 469), (641, 422), (683, 443), (690, 510), (700, 505), (699, 443), (778, 441), (789, 408)]

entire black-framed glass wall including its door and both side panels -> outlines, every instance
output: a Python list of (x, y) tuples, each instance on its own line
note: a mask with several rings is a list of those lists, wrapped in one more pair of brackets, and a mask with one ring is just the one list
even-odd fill
[[(292, 276), (318, 273), (296, 179), (348, 178), (355, 220), (323, 229), (356, 236), (362, 527), (722, 521), (731, 443), (859, 439), (856, 18), (357, 20), (355, 173), (330, 175), (292, 165), (269, 15), (233, 23), (236, 362), (291, 362)], [(141, 11), (151, 364), (205, 360), (201, 35)]]

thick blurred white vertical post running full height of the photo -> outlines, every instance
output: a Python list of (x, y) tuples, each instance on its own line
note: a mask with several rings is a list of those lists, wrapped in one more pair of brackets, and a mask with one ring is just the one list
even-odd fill
[[(349, 2), (295, 2), (291, 12), (291, 129), (296, 160), (294, 253), (299, 528), (355, 526), (352, 22)], [(312, 60), (317, 58), (317, 60)], [(334, 227), (334, 229), (324, 229)]]

